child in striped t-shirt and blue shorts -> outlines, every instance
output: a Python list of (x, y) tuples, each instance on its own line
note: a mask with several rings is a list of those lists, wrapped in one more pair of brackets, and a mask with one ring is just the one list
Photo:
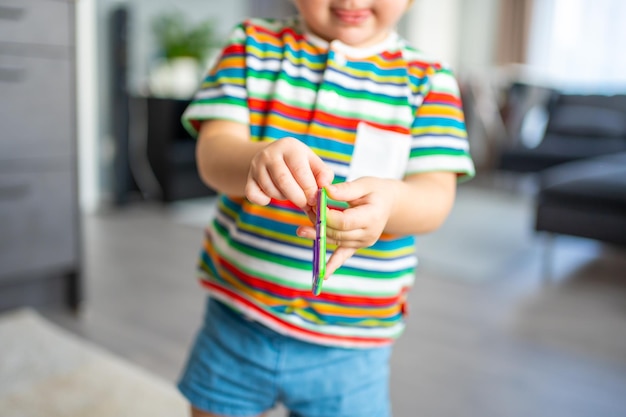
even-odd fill
[[(179, 389), (194, 416), (390, 416), (389, 356), (414, 279), (474, 169), (457, 84), (394, 27), (410, 0), (295, 0), (239, 25), (183, 116), (221, 194), (209, 290)], [(332, 255), (311, 292), (315, 195)]]

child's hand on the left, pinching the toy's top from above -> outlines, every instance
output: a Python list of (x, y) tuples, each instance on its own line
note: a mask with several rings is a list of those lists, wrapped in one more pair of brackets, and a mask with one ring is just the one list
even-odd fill
[(329, 185), (333, 177), (332, 169), (304, 143), (283, 138), (252, 158), (245, 193), (256, 204), (267, 205), (274, 198), (310, 211), (318, 188)]

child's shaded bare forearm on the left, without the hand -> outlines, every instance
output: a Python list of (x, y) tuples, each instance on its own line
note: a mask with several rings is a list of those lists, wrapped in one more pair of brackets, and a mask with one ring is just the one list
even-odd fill
[(242, 197), (250, 161), (265, 146), (250, 141), (245, 125), (223, 120), (205, 122), (196, 145), (200, 178), (215, 191)]

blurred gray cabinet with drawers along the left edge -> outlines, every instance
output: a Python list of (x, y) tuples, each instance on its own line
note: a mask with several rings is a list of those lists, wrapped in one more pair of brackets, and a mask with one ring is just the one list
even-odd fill
[(74, 7), (0, 0), (0, 310), (81, 300)]

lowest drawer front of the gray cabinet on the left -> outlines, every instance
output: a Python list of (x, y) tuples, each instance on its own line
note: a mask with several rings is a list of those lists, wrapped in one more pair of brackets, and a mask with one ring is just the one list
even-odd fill
[(0, 280), (75, 266), (77, 216), (69, 169), (0, 174)]

